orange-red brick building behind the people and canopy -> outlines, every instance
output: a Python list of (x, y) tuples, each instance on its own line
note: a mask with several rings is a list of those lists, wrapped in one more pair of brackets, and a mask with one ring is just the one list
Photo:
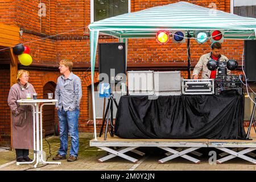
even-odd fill
[[(87, 26), (97, 18), (94, 12), (96, 9), (92, 8), (94, 5), (90, 5), (91, 2), (96, 1), (5, 0), (0, 2), (0, 23), (19, 27), (22, 31), (19, 42), (27, 43), (26, 46), (30, 47), (30, 55), (33, 58), (32, 64), (25, 67), (18, 63), (18, 69), (30, 71), (29, 82), (34, 85), (39, 98), (44, 98), (47, 93), (54, 92), (57, 77), (60, 76), (57, 69), (60, 60), (69, 59), (75, 63), (73, 72), (80, 76), (82, 81), (80, 132), (93, 131), (90, 102), (90, 85), (92, 83), (90, 82), (89, 30)], [(113, 3), (113, 1), (109, 2)], [(177, 0), (127, 0), (128, 7), (125, 11), (134, 12), (174, 2), (177, 2)], [(209, 8), (216, 7), (218, 10), (228, 13), (233, 11), (232, 8), (230, 9), (230, 7), (233, 7), (233, 0), (192, 0), (186, 2)], [(95, 4), (95, 6), (97, 5)], [(239, 10), (236, 9), (236, 11)], [(92, 18), (91, 15), (95, 17)], [(62, 34), (63, 32), (66, 33)], [(51, 37), (47, 38), (48, 36)], [(99, 39), (99, 43), (117, 41), (117, 39), (102, 35)], [(200, 45), (192, 40), (192, 68), (202, 54), (210, 51), (209, 45), (209, 40), (207, 43)], [(238, 60), (241, 65), (243, 42), (224, 40), (222, 46), (224, 55)], [(159, 46), (155, 39), (129, 40), (127, 70), (179, 70), (181, 76), (186, 78), (188, 76), (186, 47), (186, 43), (177, 46), (177, 44), (171, 42)], [(3, 147), (9, 147), (11, 140), (10, 109), (7, 106), (7, 97), (12, 82), (10, 63), (11, 57), (8, 50), (0, 51), (0, 146)], [(97, 67), (98, 63), (96, 62), (95, 84), (97, 84)], [(239, 70), (236, 71), (237, 74), (240, 72)], [(45, 107), (45, 133), (52, 134), (56, 123), (57, 117), (53, 106)], [(100, 125), (99, 122), (97, 130)]]

